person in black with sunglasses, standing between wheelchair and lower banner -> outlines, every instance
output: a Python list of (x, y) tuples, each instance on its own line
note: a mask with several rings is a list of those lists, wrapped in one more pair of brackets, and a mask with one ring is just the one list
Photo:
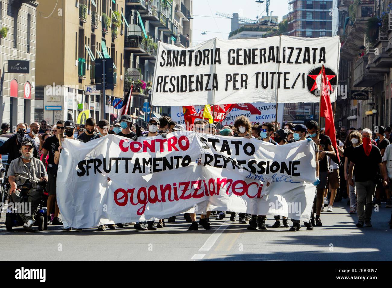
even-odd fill
[[(56, 123), (57, 133), (64, 133), (64, 121), (59, 120)], [(51, 212), (54, 203), (54, 217), (51, 222), (53, 225), (63, 225), (62, 221), (58, 217), (60, 210), (58, 209), (57, 201), (56, 201), (56, 178), (57, 178), (57, 165), (54, 163), (54, 153), (56, 152), (56, 145), (58, 145), (57, 135), (50, 136), (46, 138), (44, 144), (42, 145), (42, 162), (47, 162), (47, 174), (48, 174), (48, 185), (47, 190), (49, 193), (48, 201), (47, 201), (47, 215), (48, 215), (48, 224), (51, 221)], [(48, 157), (46, 157), (48, 156)], [(47, 158), (47, 160), (46, 160)]]

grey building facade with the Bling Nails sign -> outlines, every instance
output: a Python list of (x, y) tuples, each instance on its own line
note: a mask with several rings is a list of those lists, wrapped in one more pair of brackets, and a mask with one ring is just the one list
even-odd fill
[(0, 0), (0, 121), (34, 121), (38, 2)]

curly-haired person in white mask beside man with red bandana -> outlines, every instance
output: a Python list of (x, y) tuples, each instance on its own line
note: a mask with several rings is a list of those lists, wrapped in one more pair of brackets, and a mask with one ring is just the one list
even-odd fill
[[(352, 143), (352, 145), (347, 145), (346, 149), (343, 152), (343, 156), (346, 157), (344, 162), (344, 178), (347, 181), (348, 185), (348, 197), (350, 198), (350, 214), (355, 214), (357, 209), (357, 199), (356, 199), (356, 190), (355, 186), (350, 185), (348, 182), (348, 165), (350, 164), (352, 158), (352, 152), (355, 147), (362, 144), (362, 135), (358, 131), (352, 131), (348, 136), (348, 141)], [(355, 175), (353, 177), (355, 179)]]

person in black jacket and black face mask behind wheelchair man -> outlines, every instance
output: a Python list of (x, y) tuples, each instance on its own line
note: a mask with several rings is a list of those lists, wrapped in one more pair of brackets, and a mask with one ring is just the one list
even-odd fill
[[(31, 142), (34, 147), (34, 143), (31, 139), (25, 136), (26, 126), (23, 123), (19, 123), (16, 126), (16, 134), (10, 137), (4, 144), (0, 147), (0, 154), (8, 154), (7, 163), (10, 164), (12, 160), (20, 157), (20, 145), (25, 141)], [(33, 157), (38, 158), (37, 151), (34, 149)], [(7, 165), (7, 170), (8, 170)]]

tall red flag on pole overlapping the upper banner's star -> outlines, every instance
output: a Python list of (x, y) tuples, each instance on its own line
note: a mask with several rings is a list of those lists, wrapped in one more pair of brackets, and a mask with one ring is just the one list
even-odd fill
[(321, 99), (320, 99), (320, 117), (325, 118), (325, 135), (331, 138), (332, 147), (334, 147), (336, 151), (336, 156), (339, 159), (339, 151), (338, 145), (336, 144), (336, 136), (335, 136), (335, 121), (334, 121), (334, 112), (332, 110), (331, 98), (329, 96), (328, 89), (328, 80), (327, 75), (325, 74), (324, 65), (321, 68), (322, 70), (322, 80), (321, 80)]

